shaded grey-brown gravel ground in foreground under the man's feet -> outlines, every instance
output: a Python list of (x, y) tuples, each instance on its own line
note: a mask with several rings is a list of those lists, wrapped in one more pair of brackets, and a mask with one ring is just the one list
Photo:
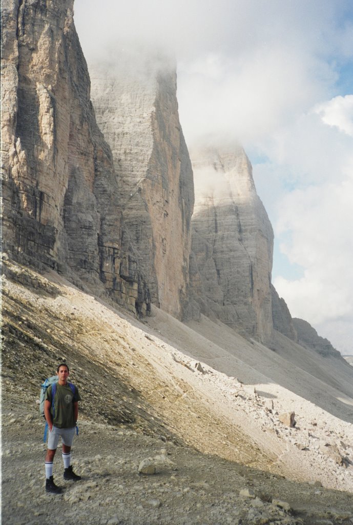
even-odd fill
[[(59, 448), (54, 476), (63, 493), (48, 495), (42, 430), (31, 404), (3, 396), (2, 518), (8, 525), (353, 523), (346, 492), (204, 455), (146, 436), (134, 425), (87, 419), (73, 447), (82, 480), (63, 481)], [(156, 468), (153, 475), (138, 472), (146, 458)]]

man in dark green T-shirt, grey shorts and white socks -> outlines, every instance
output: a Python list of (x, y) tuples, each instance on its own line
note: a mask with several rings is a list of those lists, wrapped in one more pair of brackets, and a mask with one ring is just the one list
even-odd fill
[(59, 377), (55, 387), (54, 403), (52, 387), (48, 386), (44, 398), (44, 415), (49, 427), (48, 449), (45, 457), (46, 491), (60, 493), (61, 488), (55, 485), (52, 475), (53, 462), (58, 447), (59, 436), (62, 442), (63, 478), (78, 481), (71, 466), (71, 446), (79, 413), (80, 394), (76, 386), (68, 383), (69, 367), (66, 363), (57, 368)]

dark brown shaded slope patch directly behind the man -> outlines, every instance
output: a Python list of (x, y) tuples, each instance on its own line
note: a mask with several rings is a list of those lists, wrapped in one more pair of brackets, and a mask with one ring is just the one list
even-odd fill
[(70, 380), (81, 393), (83, 417), (111, 425), (133, 424), (145, 434), (175, 442), (176, 436), (165, 428), (153, 407), (119, 372), (123, 360), (116, 355), (106, 360), (91, 352), (80, 340), (80, 334), (90, 328), (75, 315), (74, 307), (71, 313), (60, 307), (53, 309), (60, 290), (45, 286), (48, 281), (39, 274), (30, 274), (37, 275), (38, 280), (25, 286), (25, 280), (20, 279), (21, 284), (16, 285), (20, 295), (6, 286), (2, 289), (3, 395), (17, 399), (16, 392), (21, 391), (33, 403), (38, 402), (40, 384), (55, 375), (58, 363), (65, 361), (70, 366)]

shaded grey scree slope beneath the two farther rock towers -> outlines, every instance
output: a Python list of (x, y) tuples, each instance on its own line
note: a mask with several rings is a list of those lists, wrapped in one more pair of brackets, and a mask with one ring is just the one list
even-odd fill
[[(277, 351), (202, 317), (187, 324), (153, 309), (148, 325), (180, 351), (247, 384), (277, 383), (334, 416), (353, 421), (353, 369), (274, 334)], [(199, 337), (195, 337), (195, 333)]]

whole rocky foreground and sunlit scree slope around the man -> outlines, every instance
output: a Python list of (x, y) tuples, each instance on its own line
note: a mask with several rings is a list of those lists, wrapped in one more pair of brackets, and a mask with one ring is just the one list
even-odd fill
[[(6, 265), (3, 523), (353, 523), (347, 396), (339, 418), (341, 405), (334, 416), (240, 361), (247, 381), (237, 380), (181, 351), (191, 336), (194, 352), (198, 344), (181, 323), (168, 321), (167, 337), (166, 319), (134, 321), (58, 277)], [(48, 495), (39, 385), (63, 359), (82, 396), (73, 447), (82, 480), (63, 481), (58, 449), (54, 477), (64, 490)], [(288, 407), (295, 427), (280, 421)], [(154, 474), (139, 473), (147, 459)]]

